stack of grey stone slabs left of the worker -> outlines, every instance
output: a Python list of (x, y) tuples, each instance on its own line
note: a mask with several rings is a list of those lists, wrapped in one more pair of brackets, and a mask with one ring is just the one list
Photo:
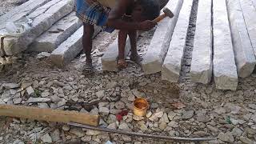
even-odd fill
[[(6, 25), (32, 20), (30, 29), (5, 36)], [(95, 27), (95, 34), (100, 31)], [(74, 0), (30, 0), (0, 17), (1, 56), (24, 50), (49, 52), (57, 66), (64, 66), (82, 50), (82, 22), (74, 12)]]

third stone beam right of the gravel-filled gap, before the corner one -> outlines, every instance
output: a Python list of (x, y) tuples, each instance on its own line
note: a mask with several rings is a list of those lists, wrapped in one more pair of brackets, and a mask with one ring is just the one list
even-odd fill
[(238, 76), (246, 78), (254, 71), (256, 64), (254, 50), (250, 42), (239, 0), (227, 0), (226, 3)]

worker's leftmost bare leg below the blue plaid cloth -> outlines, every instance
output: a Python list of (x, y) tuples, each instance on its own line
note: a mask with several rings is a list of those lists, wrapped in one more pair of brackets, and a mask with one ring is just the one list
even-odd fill
[(82, 35), (82, 46), (83, 50), (86, 53), (86, 68), (92, 69), (92, 59), (91, 59), (91, 50), (92, 50), (92, 38), (94, 35), (94, 26), (83, 23), (83, 35)]

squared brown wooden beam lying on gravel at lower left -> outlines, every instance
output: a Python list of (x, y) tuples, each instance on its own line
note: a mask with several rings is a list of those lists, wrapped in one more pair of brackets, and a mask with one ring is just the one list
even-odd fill
[(98, 126), (99, 116), (74, 111), (40, 109), (30, 106), (0, 105), (0, 115), (14, 118), (29, 118), (48, 122), (77, 122)]

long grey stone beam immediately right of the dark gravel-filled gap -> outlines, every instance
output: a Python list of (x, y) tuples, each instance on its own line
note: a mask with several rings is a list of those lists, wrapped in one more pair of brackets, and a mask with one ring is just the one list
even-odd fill
[(198, 3), (197, 29), (194, 34), (194, 48), (190, 67), (192, 82), (209, 83), (212, 78), (212, 0)]

